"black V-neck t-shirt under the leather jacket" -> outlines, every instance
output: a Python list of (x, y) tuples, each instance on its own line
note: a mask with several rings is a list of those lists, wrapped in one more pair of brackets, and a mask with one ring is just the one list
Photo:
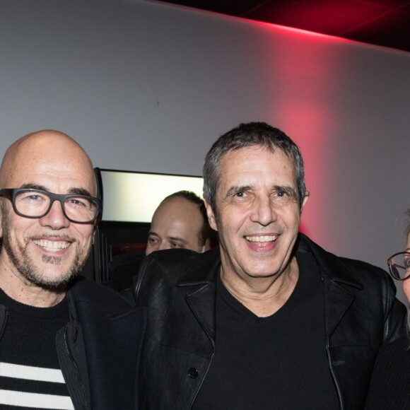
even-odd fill
[(299, 279), (280, 310), (257, 317), (218, 279), (216, 351), (193, 410), (339, 409), (324, 334), (315, 259), (298, 254)]

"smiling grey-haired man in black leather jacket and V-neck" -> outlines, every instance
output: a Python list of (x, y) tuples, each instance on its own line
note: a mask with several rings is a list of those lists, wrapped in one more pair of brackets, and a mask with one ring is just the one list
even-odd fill
[(298, 233), (308, 195), (279, 129), (240, 124), (213, 144), (204, 199), (219, 247), (153, 253), (133, 286), (148, 312), (145, 410), (363, 409), (404, 306), (385, 271)]

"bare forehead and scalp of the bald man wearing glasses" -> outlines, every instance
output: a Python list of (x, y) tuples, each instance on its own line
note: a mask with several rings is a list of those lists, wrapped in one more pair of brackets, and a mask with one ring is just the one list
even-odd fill
[(6, 151), (0, 185), (18, 188), (37, 185), (56, 193), (85, 189), (96, 194), (93, 165), (74, 140), (56, 136), (33, 137)]

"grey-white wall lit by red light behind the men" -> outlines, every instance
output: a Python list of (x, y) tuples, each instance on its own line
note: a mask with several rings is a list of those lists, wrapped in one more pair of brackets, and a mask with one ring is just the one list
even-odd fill
[(299, 144), (303, 230), (385, 267), (410, 206), (410, 54), (150, 1), (2, 0), (0, 155), (36, 129), (95, 166), (199, 175), (263, 120)]

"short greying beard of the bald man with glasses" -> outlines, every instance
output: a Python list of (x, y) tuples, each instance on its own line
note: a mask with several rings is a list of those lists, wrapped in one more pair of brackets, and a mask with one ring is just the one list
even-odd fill
[[(3, 209), (5, 211), (5, 209)], [(42, 275), (42, 271), (38, 269), (34, 264), (33, 261), (30, 259), (30, 255), (27, 252), (27, 244), (29, 240), (33, 238), (27, 238), (25, 240), (25, 247), (17, 249), (13, 249), (10, 244), (10, 218), (6, 212), (3, 212), (3, 247), (6, 253), (8, 254), (8, 259), (10, 259), (11, 263), (16, 267), (18, 272), (28, 279), (31, 283), (35, 284), (36, 286), (40, 286), (42, 288), (59, 288), (62, 285), (68, 283), (71, 279), (74, 278), (78, 274), (78, 271), (81, 270), (83, 265), (86, 263), (87, 258), (83, 258), (83, 261), (80, 260), (81, 250), (78, 248), (79, 244), (74, 240), (73, 243), (77, 245), (77, 252), (74, 256), (73, 262), (71, 262), (71, 266), (57, 278), (47, 278)], [(17, 252), (19, 254), (17, 254)], [(42, 261), (46, 264), (54, 264), (59, 265), (61, 264), (61, 257), (53, 257), (53, 256), (42, 256)]]

